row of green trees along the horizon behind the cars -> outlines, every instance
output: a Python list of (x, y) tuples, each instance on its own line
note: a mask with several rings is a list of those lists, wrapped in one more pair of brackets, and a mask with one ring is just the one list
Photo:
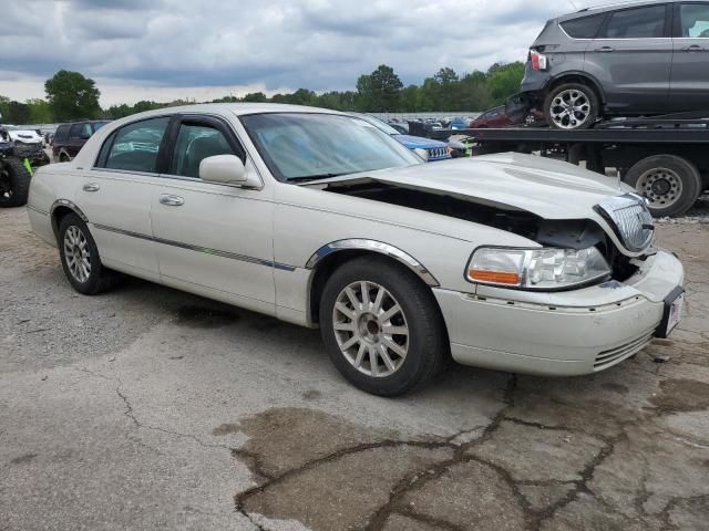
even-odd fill
[[(316, 93), (298, 88), (288, 94), (268, 97), (254, 92), (242, 97), (234, 95), (210, 103), (271, 102), (309, 105), (336, 111), (356, 112), (477, 112), (504, 102), (520, 91), (524, 64), (495, 63), (486, 72), (475, 71), (459, 75), (453, 69), (442, 67), (421, 85), (404, 86), (391, 66), (379, 65), (371, 74), (360, 75), (353, 91)], [(92, 79), (79, 72), (59, 71), (44, 83), (45, 100), (24, 103), (0, 95), (0, 113), (4, 123), (45, 124), (84, 118), (116, 119), (143, 111), (196, 103), (178, 100), (171, 103), (141, 101), (101, 108), (99, 91)]]

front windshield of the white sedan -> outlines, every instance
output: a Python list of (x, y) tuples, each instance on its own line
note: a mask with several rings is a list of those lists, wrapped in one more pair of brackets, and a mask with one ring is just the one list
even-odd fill
[(242, 123), (274, 176), (311, 180), (400, 168), (421, 159), (373, 125), (336, 114), (273, 113)]

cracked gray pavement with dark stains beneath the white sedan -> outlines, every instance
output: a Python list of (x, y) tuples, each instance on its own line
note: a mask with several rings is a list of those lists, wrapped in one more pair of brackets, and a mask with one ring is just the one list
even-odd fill
[(669, 340), (399, 399), (316, 331), (138, 280), (81, 296), (24, 209), (0, 227), (2, 531), (707, 529), (708, 223), (658, 227), (687, 269)]

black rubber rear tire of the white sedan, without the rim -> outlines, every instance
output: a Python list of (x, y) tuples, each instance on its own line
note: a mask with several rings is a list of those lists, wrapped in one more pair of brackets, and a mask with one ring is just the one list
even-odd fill
[[(91, 270), (85, 279), (79, 279), (70, 269), (68, 262), (68, 252), (64, 239), (66, 232), (71, 229), (78, 229), (83, 238), (85, 238), (85, 249), (89, 252), (89, 262)], [(101, 263), (101, 257), (99, 256), (99, 249), (96, 242), (89, 231), (86, 223), (75, 214), (68, 214), (59, 223), (59, 235), (56, 237), (56, 244), (59, 247), (59, 256), (62, 261), (62, 268), (64, 274), (71, 283), (72, 288), (79, 293), (84, 295), (95, 295), (113, 288), (120, 280), (119, 273), (111, 271), (103, 267)]]

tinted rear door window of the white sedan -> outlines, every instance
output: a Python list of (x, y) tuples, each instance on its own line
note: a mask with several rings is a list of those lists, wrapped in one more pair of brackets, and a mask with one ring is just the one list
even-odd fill
[[(155, 174), (157, 171), (157, 153), (168, 123), (169, 118), (164, 117), (145, 119), (121, 127), (106, 140), (111, 147), (105, 156), (105, 164), (102, 164), (103, 157), (100, 156), (99, 166)], [(105, 144), (104, 147), (106, 147)], [(103, 155), (104, 148), (101, 150)]]

